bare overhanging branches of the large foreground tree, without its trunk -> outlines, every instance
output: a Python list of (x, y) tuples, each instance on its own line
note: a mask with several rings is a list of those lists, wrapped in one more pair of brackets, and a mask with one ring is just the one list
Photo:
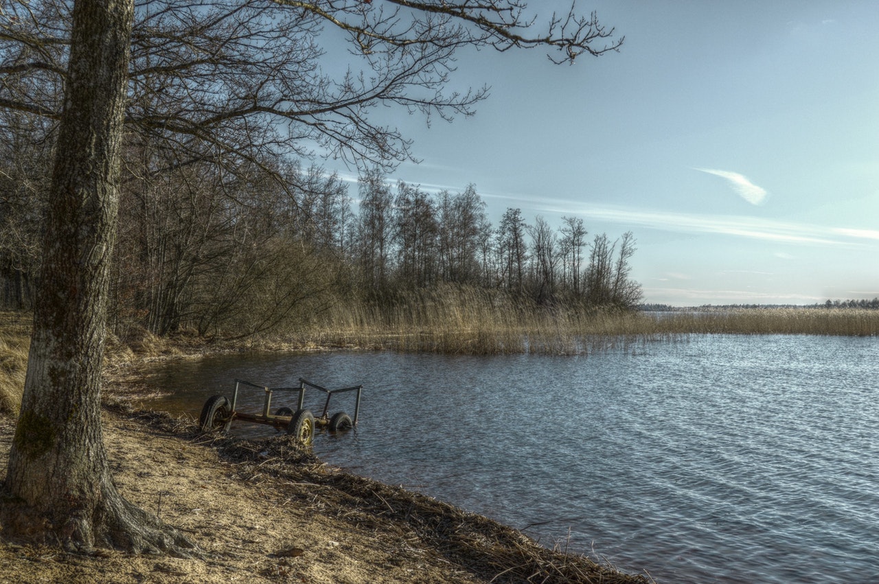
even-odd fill
[[(57, 119), (69, 3), (11, 0), (0, 41), (0, 105)], [(520, 0), (135, 3), (126, 123), (177, 163), (315, 152), (367, 168), (410, 157), (411, 142), (370, 114), (396, 105), (470, 115), (484, 88), (448, 90), (461, 47), (548, 47), (556, 62), (617, 50), (613, 29), (571, 10), (537, 31)], [(338, 29), (347, 50), (324, 41)], [(347, 68), (339, 68), (343, 62)], [(359, 70), (360, 69), (360, 70)]]

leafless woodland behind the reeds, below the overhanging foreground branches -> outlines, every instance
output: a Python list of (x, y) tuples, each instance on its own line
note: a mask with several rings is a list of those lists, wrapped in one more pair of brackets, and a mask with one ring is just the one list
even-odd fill
[[(48, 152), (14, 125), (4, 129), (0, 306), (29, 308)], [(135, 137), (123, 175), (110, 303), (117, 335), (229, 338), (307, 327), (329, 307), (397, 311), (411, 292), (439, 285), (524, 299), (535, 310), (629, 309), (642, 298), (629, 276), (631, 233), (587, 239), (579, 218), (554, 229), (515, 208), (493, 226), (472, 185), (432, 194), (373, 170), (352, 196), (316, 166), (179, 161)]]

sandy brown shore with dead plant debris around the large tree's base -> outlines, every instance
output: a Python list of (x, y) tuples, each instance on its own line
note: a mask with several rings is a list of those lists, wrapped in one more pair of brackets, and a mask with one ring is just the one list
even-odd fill
[[(200, 556), (79, 556), (6, 542), (0, 583), (648, 581), (323, 465), (287, 436), (207, 436), (193, 421), (119, 404), (104, 427), (120, 492), (182, 530)], [(0, 472), (13, 430), (0, 418)]]

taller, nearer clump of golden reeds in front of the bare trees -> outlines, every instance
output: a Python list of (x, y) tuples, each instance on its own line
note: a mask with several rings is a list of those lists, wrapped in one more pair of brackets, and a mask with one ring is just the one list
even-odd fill
[[(413, 291), (386, 305), (338, 305), (316, 321), (317, 344), (450, 354), (582, 354), (653, 338), (643, 314), (537, 306), (474, 288)], [(663, 335), (662, 332), (656, 333)]]

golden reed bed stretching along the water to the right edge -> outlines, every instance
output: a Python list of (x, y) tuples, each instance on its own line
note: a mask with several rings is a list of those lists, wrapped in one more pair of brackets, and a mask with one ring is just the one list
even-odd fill
[(309, 329), (322, 346), (497, 355), (586, 355), (636, 350), (694, 334), (879, 334), (879, 311), (859, 308), (741, 308), (643, 313), (536, 306), (496, 292), (440, 288), (390, 305), (338, 305)]

